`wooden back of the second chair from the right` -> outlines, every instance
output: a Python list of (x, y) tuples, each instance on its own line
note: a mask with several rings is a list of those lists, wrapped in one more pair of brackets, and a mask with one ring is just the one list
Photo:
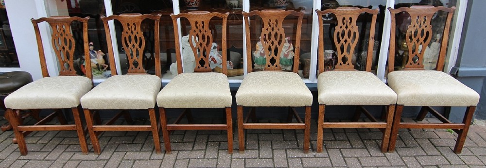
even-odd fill
[[(324, 26), (322, 16), (334, 14), (337, 19), (337, 25), (334, 30), (333, 39), (336, 46), (337, 65), (335, 70), (355, 70), (351, 60), (356, 45), (359, 43), (358, 17), (363, 13), (372, 15), (369, 32), (368, 51), (373, 50), (373, 41), (375, 40), (376, 17), (379, 9), (342, 7), (337, 9), (326, 9), (324, 11), (315, 10), (319, 20), (319, 74), (325, 71), (324, 68)], [(361, 29), (366, 29), (362, 27)], [(362, 34), (364, 35), (364, 34)], [(363, 49), (364, 50), (364, 49)], [(367, 52), (366, 71), (371, 71), (373, 52)]]

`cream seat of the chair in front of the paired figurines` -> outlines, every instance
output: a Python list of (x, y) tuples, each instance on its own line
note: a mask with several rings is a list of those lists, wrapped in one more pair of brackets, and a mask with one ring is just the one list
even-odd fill
[(303, 107), (312, 105), (312, 93), (293, 72), (251, 72), (243, 79), (236, 103), (249, 107)]

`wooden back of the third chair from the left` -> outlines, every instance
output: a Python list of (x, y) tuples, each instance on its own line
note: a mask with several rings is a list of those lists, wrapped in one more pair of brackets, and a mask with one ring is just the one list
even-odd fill
[[(219, 17), (222, 19), (222, 37), (221, 37), (221, 49), (222, 49), (222, 72), (227, 75), (226, 66), (226, 23), (229, 12), (225, 14), (218, 12), (207, 11), (194, 11), (188, 13), (180, 13), (178, 15), (171, 14), (174, 23), (174, 35), (175, 35), (175, 54), (177, 62), (177, 74), (183, 73), (182, 70), (182, 54), (179, 41), (179, 23), (178, 18), (186, 18), (191, 24), (191, 30), (189, 31), (189, 44), (191, 46), (192, 53), (195, 58), (194, 72), (211, 72), (209, 67), (209, 53), (211, 52), (212, 43), (216, 41), (213, 37), (213, 33), (210, 29), (211, 19), (213, 17)], [(193, 40), (193, 41), (192, 41)], [(192, 42), (191, 42), (192, 41)]]

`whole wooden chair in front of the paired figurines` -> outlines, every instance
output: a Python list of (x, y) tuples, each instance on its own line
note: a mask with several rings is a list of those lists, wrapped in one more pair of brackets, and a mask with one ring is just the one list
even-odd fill
[[(260, 17), (263, 24), (260, 38), (266, 56), (263, 71), (252, 72), (252, 52), (250, 44), (249, 17)], [(295, 27), (295, 56), (292, 72), (282, 71), (280, 55), (285, 44), (285, 30), (283, 22), (287, 16), (296, 17)], [(262, 10), (243, 12), (246, 34), (246, 57), (248, 74), (236, 93), (238, 104), (238, 139), (240, 153), (244, 152), (244, 129), (303, 129), (304, 152), (309, 152), (312, 93), (298, 75), (298, 61), (300, 52), (300, 32), (302, 28), (303, 12), (293, 10)], [(258, 25), (255, 25), (258, 26)], [(292, 31), (292, 30), (288, 30)], [(258, 37), (257, 37), (258, 38)], [(274, 51), (277, 51), (274, 52)], [(243, 119), (243, 107), (250, 107), (248, 116)], [(289, 123), (247, 123), (248, 117), (255, 119), (255, 107), (289, 107)], [(305, 107), (305, 121), (297, 115), (294, 107)], [(295, 116), (299, 123), (291, 123)]]

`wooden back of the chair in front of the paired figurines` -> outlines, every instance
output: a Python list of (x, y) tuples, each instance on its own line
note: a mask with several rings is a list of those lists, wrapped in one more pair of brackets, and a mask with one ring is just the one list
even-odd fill
[[(248, 73), (252, 72), (252, 52), (251, 52), (251, 30), (250, 30), (250, 18), (252, 16), (257, 16), (261, 18), (262, 25), (261, 25), (261, 33), (260, 37), (260, 42), (263, 46), (263, 50), (265, 51), (266, 55), (266, 64), (263, 67), (264, 71), (281, 71), (282, 67), (280, 67), (280, 55), (282, 52), (282, 48), (284, 47), (285, 44), (285, 38), (287, 37), (285, 35), (285, 29), (283, 28), (283, 23), (285, 20), (285, 17), (288, 16), (294, 16), (297, 17), (298, 19), (296, 20), (295, 23), (295, 36), (292, 38), (295, 39), (295, 45), (294, 45), (294, 65), (292, 67), (292, 71), (295, 73), (298, 73), (298, 61), (299, 61), (299, 55), (300, 55), (300, 33), (302, 29), (302, 19), (304, 17), (304, 12), (300, 11), (294, 11), (294, 10), (282, 10), (282, 9), (265, 9), (261, 11), (251, 11), (249, 13), (247, 12), (242, 12), (243, 14), (243, 20), (245, 23), (245, 34), (246, 34), (246, 57), (247, 57), (247, 62), (246, 66), (248, 69)], [(256, 27), (257, 25), (252, 25), (253, 27)], [(255, 30), (255, 29), (252, 29)], [(258, 39), (259, 37), (254, 37), (255, 39)], [(275, 52), (277, 51), (277, 52)]]

